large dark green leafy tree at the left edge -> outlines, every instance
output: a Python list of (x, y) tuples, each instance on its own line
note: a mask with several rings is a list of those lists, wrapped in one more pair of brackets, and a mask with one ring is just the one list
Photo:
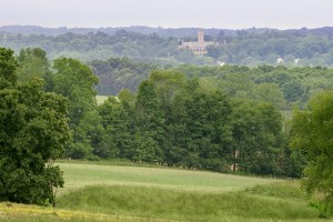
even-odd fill
[(0, 201), (54, 203), (63, 179), (52, 160), (70, 139), (67, 100), (44, 92), (40, 79), (17, 84), (17, 65), (0, 48)]

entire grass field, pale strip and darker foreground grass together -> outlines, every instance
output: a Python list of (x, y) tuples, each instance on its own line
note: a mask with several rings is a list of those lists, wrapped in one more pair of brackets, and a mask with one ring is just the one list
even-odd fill
[(74, 161), (59, 165), (65, 188), (57, 209), (0, 203), (0, 221), (330, 221), (309, 206), (299, 181)]

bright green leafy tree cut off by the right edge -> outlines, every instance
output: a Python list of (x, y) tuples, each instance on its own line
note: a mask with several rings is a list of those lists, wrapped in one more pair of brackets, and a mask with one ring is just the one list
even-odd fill
[(323, 193), (325, 210), (333, 213), (333, 91), (317, 94), (305, 111), (296, 111), (292, 129), (292, 147), (307, 159), (303, 184), (309, 193)]

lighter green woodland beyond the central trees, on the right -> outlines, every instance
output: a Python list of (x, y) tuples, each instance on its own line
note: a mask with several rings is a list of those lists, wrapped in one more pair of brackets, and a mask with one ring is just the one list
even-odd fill
[(203, 78), (208, 84), (231, 95), (270, 101), (280, 109), (303, 107), (317, 92), (333, 88), (333, 69), (322, 67), (181, 65), (174, 70), (188, 77)]

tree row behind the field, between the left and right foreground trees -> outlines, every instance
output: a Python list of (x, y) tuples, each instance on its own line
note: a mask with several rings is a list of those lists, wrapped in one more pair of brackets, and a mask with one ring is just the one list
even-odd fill
[[(19, 81), (43, 78), (46, 91), (69, 100), (73, 137), (63, 157), (300, 175), (302, 157), (292, 155), (282, 129), (279, 105), (283, 94), (273, 90), (278, 97), (268, 101), (264, 93), (254, 97), (256, 91), (266, 92), (270, 84), (252, 92), (251, 83), (243, 84), (248, 79), (234, 74), (225, 90), (214, 79), (155, 70), (140, 82), (135, 93), (123, 89), (98, 107), (98, 79), (89, 67), (61, 58), (53, 61), (51, 69), (39, 49), (21, 50), (18, 58)], [(115, 67), (129, 63), (127, 59), (110, 62)], [(34, 74), (27, 75), (32, 70), (28, 64), (36, 65)], [(248, 69), (239, 69), (246, 74)]]

